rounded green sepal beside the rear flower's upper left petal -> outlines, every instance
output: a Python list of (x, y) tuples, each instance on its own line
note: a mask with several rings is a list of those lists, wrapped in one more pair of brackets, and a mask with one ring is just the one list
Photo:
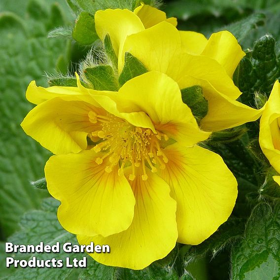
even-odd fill
[(91, 45), (99, 37), (95, 31), (94, 16), (87, 12), (81, 12), (75, 21), (72, 37), (82, 45)]

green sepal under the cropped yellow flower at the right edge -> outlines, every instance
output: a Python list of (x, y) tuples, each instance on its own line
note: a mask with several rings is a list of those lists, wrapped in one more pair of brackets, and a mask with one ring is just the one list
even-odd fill
[(259, 194), (263, 198), (280, 199), (280, 185), (273, 179), (273, 176), (280, 174), (271, 167), (268, 170), (265, 181), (259, 189)]

